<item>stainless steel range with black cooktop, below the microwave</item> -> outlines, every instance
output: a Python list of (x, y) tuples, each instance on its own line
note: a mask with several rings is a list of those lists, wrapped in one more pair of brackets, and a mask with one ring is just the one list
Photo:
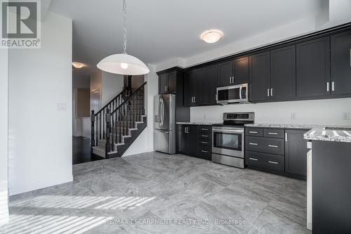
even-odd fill
[(244, 169), (244, 125), (254, 117), (253, 112), (223, 114), (223, 124), (212, 126), (212, 162)]

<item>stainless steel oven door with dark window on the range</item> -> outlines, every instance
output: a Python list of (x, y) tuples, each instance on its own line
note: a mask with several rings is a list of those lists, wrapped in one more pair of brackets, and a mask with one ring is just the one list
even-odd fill
[(244, 158), (244, 129), (213, 127), (212, 141), (213, 153)]

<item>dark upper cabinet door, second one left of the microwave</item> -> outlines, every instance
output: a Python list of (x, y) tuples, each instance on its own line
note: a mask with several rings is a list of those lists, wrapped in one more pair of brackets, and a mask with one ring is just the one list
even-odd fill
[(194, 91), (194, 105), (204, 104), (206, 100), (205, 68), (194, 70), (194, 77), (192, 77), (192, 88)]

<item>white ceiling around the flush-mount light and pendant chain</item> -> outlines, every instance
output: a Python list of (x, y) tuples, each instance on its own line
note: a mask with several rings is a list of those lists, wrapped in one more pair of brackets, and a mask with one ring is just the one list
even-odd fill
[[(123, 0), (52, 0), (49, 11), (73, 20), (73, 59), (91, 65), (123, 49)], [(314, 17), (324, 0), (128, 0), (127, 52), (145, 63), (187, 58)], [(216, 44), (204, 30), (224, 32)]]

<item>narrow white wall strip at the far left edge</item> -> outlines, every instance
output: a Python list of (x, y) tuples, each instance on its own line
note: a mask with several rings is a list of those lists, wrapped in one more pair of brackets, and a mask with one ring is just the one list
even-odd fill
[(0, 49), (0, 226), (8, 222), (8, 50)]

